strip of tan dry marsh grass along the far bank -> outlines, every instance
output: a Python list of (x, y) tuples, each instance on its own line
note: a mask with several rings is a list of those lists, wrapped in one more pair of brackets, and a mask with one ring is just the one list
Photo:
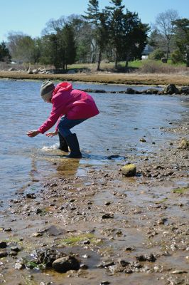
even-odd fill
[(27, 74), (14, 71), (0, 71), (0, 78), (53, 81), (82, 81), (93, 83), (115, 83), (126, 85), (189, 86), (189, 77), (180, 74), (139, 73), (75, 73), (75, 74)]

